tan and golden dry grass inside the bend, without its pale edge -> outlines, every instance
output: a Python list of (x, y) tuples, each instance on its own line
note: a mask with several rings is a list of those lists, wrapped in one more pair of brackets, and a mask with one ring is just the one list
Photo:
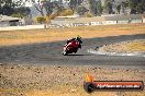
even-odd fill
[(145, 39), (121, 41), (112, 45), (104, 45), (99, 48), (102, 52), (145, 52)]

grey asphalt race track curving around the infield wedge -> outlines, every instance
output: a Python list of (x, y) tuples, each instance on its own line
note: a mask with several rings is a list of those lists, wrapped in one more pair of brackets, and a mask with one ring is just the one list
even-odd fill
[(119, 41), (142, 39), (145, 35), (123, 35), (102, 38), (82, 39), (82, 48), (76, 55), (63, 56), (63, 46), (66, 41), (43, 43), (23, 46), (0, 48), (0, 62), (35, 63), (35, 64), (72, 64), (72, 65), (122, 65), (140, 67), (145, 69), (145, 57), (134, 56), (101, 56), (87, 52), (102, 45)]

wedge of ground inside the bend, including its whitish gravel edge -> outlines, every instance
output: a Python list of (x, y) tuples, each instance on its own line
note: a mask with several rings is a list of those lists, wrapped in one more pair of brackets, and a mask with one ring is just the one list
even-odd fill
[(91, 53), (145, 57), (145, 39), (120, 41), (88, 50)]

